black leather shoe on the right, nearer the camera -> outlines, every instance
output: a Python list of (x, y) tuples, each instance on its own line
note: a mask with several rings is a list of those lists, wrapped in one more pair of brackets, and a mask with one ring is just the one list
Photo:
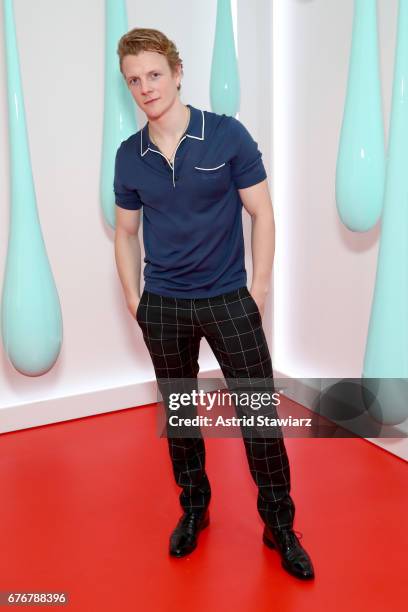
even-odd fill
[(282, 557), (282, 567), (296, 578), (314, 578), (312, 561), (290, 528), (270, 528), (265, 525), (263, 541), (276, 548)]

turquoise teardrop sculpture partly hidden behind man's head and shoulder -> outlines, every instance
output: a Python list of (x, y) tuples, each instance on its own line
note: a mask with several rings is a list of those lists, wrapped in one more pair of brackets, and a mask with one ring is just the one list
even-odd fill
[(116, 151), (122, 140), (137, 132), (133, 98), (119, 69), (117, 46), (127, 32), (124, 0), (105, 1), (105, 95), (100, 197), (105, 221), (115, 229), (113, 179)]

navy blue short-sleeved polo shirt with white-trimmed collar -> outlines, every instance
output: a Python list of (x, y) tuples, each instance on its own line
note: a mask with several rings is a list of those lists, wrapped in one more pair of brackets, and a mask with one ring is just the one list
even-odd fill
[(144, 288), (203, 298), (246, 285), (238, 189), (266, 178), (244, 125), (190, 104), (174, 167), (149, 139), (148, 123), (124, 140), (115, 161), (117, 206), (143, 207)]

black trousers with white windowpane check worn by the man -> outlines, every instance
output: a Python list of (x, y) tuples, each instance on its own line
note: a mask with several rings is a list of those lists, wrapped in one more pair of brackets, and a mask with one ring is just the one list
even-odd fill
[[(267, 379), (273, 387), (272, 361), (262, 318), (246, 286), (211, 298), (188, 299), (145, 290), (136, 319), (158, 382), (172, 378), (197, 380), (200, 341), (205, 337), (226, 381)], [(159, 389), (164, 398), (166, 390), (162, 390), (160, 383)], [(274, 406), (273, 409), (277, 417)], [(236, 410), (240, 412), (238, 405)], [(290, 468), (283, 436), (254, 436), (247, 428), (242, 430), (242, 437), (249, 469), (258, 487), (257, 508), (262, 520), (271, 527), (292, 527), (295, 505), (290, 496)], [(167, 440), (174, 477), (182, 489), (182, 508), (206, 508), (211, 487), (205, 471), (204, 439), (168, 436)]]

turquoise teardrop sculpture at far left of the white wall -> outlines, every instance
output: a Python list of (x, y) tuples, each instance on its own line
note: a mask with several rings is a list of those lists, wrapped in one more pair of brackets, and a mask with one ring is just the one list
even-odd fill
[(4, 0), (11, 169), (10, 229), (2, 293), (2, 339), (13, 366), (45, 374), (62, 344), (62, 317), (38, 217), (27, 140), (12, 0)]

